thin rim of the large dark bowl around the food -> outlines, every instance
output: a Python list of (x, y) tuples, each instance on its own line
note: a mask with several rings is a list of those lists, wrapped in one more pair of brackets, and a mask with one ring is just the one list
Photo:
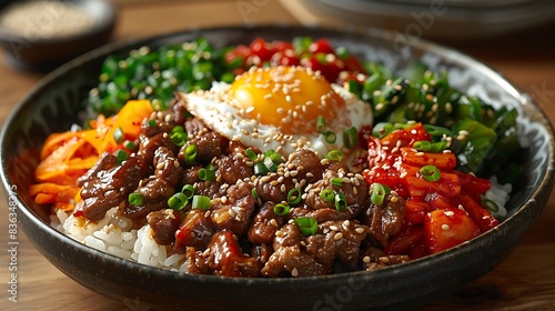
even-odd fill
[[(322, 30), (322, 31), (331, 31), (331, 32), (347, 32), (347, 33), (353, 33), (356, 36), (370, 36), (370, 37), (379, 37), (377, 39), (381, 40), (391, 40), (393, 38), (393, 33), (386, 30), (382, 29), (375, 29), (375, 28), (366, 28), (366, 31), (360, 31), (360, 30), (354, 30), (353, 29), (341, 29), (341, 28), (327, 28), (327, 27), (305, 27), (305, 26), (289, 26), (289, 24), (261, 24), (261, 26), (253, 26), (253, 27), (244, 27), (244, 26), (231, 26), (231, 27), (211, 27), (211, 28), (202, 28), (202, 29), (193, 29), (193, 30), (179, 30), (179, 31), (173, 31), (169, 33), (163, 33), (163, 34), (158, 34), (158, 36), (150, 36), (147, 38), (139, 38), (139, 39), (132, 39), (132, 40), (123, 40), (119, 42), (113, 42), (109, 44), (104, 44), (100, 48), (97, 48), (85, 54), (82, 54), (64, 64), (59, 67), (58, 69), (53, 70), (52, 72), (48, 73), (44, 78), (42, 78), (38, 83), (34, 84), (27, 93), (23, 96), (18, 103), (14, 106), (12, 111), (9, 113), (7, 119), (4, 120), (4, 123), (1, 128), (0, 131), (0, 159), (1, 159), (1, 164), (2, 164), (2, 170), (0, 170), (0, 179), (2, 181), (2, 187), (4, 188), (4, 191), (10, 191), (12, 187), (14, 185), (11, 180), (9, 180), (9, 174), (6, 169), (6, 163), (4, 163), (4, 139), (7, 131), (10, 127), (11, 123), (14, 122), (17, 119), (18, 114), (20, 111), (29, 104), (29, 99), (33, 98), (34, 94), (40, 91), (44, 86), (48, 86), (52, 81), (59, 79), (59, 77), (62, 77), (65, 72), (70, 71), (71, 69), (82, 66), (83, 63), (87, 63), (93, 59), (97, 59), (99, 57), (105, 57), (108, 53), (120, 50), (120, 49), (125, 49), (132, 46), (138, 46), (138, 44), (145, 44), (155, 40), (163, 40), (172, 37), (179, 37), (180, 34), (202, 34), (204, 31), (220, 31), (220, 30), (236, 30), (236, 31), (243, 31), (248, 29), (270, 29), (270, 30), (276, 30), (276, 29), (300, 29), (300, 30)], [(547, 136), (548, 136), (548, 141), (549, 141), (549, 148), (548, 148), (548, 168), (547, 170), (543, 173), (543, 177), (538, 184), (533, 189), (533, 191), (529, 193), (529, 198), (526, 202), (523, 203), (523, 205), (512, 215), (509, 215), (507, 219), (505, 219), (503, 222), (501, 222), (497, 227), (494, 229), (484, 232), (483, 234), (466, 241), (460, 245), (456, 245), (452, 249), (448, 249), (446, 251), (438, 252), (436, 254), (430, 254), (421, 259), (415, 259), (411, 260), (405, 263), (400, 263), (391, 267), (385, 267), (382, 269), (373, 270), (371, 273), (367, 271), (355, 271), (355, 272), (347, 272), (347, 273), (336, 273), (336, 274), (327, 274), (327, 275), (316, 275), (316, 277), (303, 277), (303, 278), (253, 278), (253, 279), (246, 279), (246, 278), (229, 278), (229, 277), (218, 277), (218, 275), (203, 275), (203, 274), (189, 274), (189, 273), (176, 273), (173, 271), (164, 270), (161, 268), (154, 268), (145, 264), (141, 264), (138, 262), (130, 261), (128, 259), (122, 259), (117, 255), (112, 255), (102, 251), (99, 251), (97, 249), (93, 249), (91, 247), (84, 245), (70, 237), (63, 234), (62, 232), (58, 231), (53, 227), (51, 227), (49, 223), (46, 223), (42, 221), (29, 207), (24, 204), (24, 202), (20, 199), (19, 194), (16, 194), (17, 198), (17, 203), (18, 203), (18, 212), (23, 212), (24, 215), (38, 228), (41, 230), (46, 230), (46, 232), (52, 237), (54, 237), (57, 240), (60, 242), (69, 243), (71, 247), (79, 249), (80, 251), (85, 252), (89, 255), (95, 257), (98, 259), (103, 259), (104, 261), (115, 264), (115, 265), (124, 265), (124, 267), (130, 267), (131, 269), (140, 270), (140, 271), (145, 271), (148, 273), (154, 273), (154, 274), (160, 274), (160, 275), (167, 275), (171, 278), (179, 278), (188, 281), (202, 281), (202, 282), (209, 282), (209, 283), (219, 283), (219, 284), (242, 284), (242, 285), (260, 285), (260, 284), (275, 284), (276, 282), (280, 283), (312, 283), (314, 281), (329, 281), (329, 282), (341, 282), (344, 281), (345, 279), (349, 278), (362, 278), (362, 281), (366, 280), (374, 280), (374, 279), (383, 279), (383, 278), (390, 278), (391, 274), (395, 274), (395, 271), (398, 271), (398, 269), (403, 270), (414, 270), (417, 271), (422, 267), (433, 267), (437, 263), (444, 262), (445, 260), (448, 260), (450, 258), (454, 257), (460, 257), (467, 252), (468, 248), (466, 247), (467, 244), (474, 242), (474, 241), (487, 241), (494, 239), (494, 234), (498, 231), (506, 231), (508, 230), (508, 227), (512, 222), (516, 221), (516, 219), (522, 218), (525, 213), (526, 210), (536, 208), (535, 204), (535, 199), (533, 198), (535, 193), (545, 193), (548, 195), (551, 192), (553, 184), (554, 184), (554, 179), (555, 179), (555, 139), (554, 139), (554, 128), (548, 118), (546, 117), (545, 112), (542, 110), (542, 108), (535, 103), (534, 99), (531, 97), (524, 96), (525, 93), (519, 91), (513, 83), (511, 83), (506, 78), (504, 78), (500, 72), (493, 70), (490, 68), (487, 64), (478, 61), (477, 59), (467, 56), (465, 53), (462, 53), (457, 51), (456, 49), (445, 47), (443, 44), (432, 42), (425, 39), (418, 39), (416, 42), (408, 42), (411, 47), (415, 48), (422, 48), (425, 49), (426, 51), (432, 51), (434, 53), (441, 53), (445, 54), (448, 53), (451, 54), (450, 58), (456, 58), (456, 61), (460, 63), (465, 63), (465, 64), (472, 64), (480, 72), (483, 74), (486, 74), (491, 78), (493, 78), (500, 86), (508, 91), (511, 94), (513, 94), (521, 104), (529, 104), (535, 113), (538, 113), (538, 117), (541, 118), (541, 123), (542, 127), (546, 130)], [(9, 199), (9, 198), (7, 198)], [(543, 210), (544, 207), (541, 207)], [(539, 213), (541, 211), (538, 211)], [(23, 228), (24, 231), (24, 228)], [(32, 239), (29, 239), (32, 243), (34, 241)]]

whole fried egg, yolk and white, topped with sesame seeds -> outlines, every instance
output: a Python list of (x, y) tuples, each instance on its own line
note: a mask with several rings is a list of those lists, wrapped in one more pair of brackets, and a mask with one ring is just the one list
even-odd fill
[[(343, 133), (372, 124), (370, 104), (304, 67), (252, 68), (233, 83), (181, 93), (189, 112), (233, 141), (287, 157), (309, 148), (323, 158), (350, 153)], [(325, 139), (322, 122), (335, 141)]]

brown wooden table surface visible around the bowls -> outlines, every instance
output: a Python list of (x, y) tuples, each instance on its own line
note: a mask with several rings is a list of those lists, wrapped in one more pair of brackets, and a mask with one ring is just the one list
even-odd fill
[[(128, 40), (188, 28), (241, 23), (301, 23), (296, 3), (274, 0), (149, 1), (114, 0), (119, 20), (112, 40)], [(243, 4), (241, 7), (240, 4)], [(245, 7), (246, 4), (246, 7)], [(301, 20), (300, 20), (301, 18)], [(313, 21), (314, 17), (306, 16)], [(325, 20), (324, 22), (334, 22)], [(555, 27), (547, 26), (512, 37), (446, 42), (502, 72), (531, 94), (555, 122)], [(0, 123), (43, 73), (9, 67), (0, 52)], [(8, 300), (8, 220), (0, 193), (0, 310), (127, 310), (67, 278), (19, 235), (18, 302)], [(466, 288), (422, 310), (555, 310), (555, 193), (542, 218), (514, 253), (498, 268)], [(78, 304), (73, 304), (78, 303)], [(70, 307), (71, 305), (71, 307)]]

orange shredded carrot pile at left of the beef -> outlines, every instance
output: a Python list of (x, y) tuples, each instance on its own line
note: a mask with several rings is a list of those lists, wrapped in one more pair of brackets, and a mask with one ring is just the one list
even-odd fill
[(50, 134), (41, 150), (41, 162), (34, 170), (39, 183), (31, 185), (31, 197), (39, 204), (73, 210), (80, 200), (80, 188), (75, 185), (79, 177), (91, 169), (104, 151), (123, 148), (122, 141), (114, 139), (115, 130), (121, 129), (125, 140), (134, 141), (141, 133), (143, 120), (152, 111), (150, 101), (132, 100), (114, 117), (99, 116), (89, 130)]

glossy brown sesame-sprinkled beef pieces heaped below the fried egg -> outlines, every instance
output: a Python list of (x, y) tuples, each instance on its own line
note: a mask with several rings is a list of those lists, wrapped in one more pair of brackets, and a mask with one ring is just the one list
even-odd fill
[[(139, 138), (139, 150), (118, 164), (102, 154), (80, 183), (83, 214), (91, 221), (119, 207), (119, 213), (137, 227), (150, 225), (152, 237), (168, 250), (185, 254), (189, 273), (226, 277), (307, 277), (342, 270), (372, 270), (408, 260), (383, 252), (389, 238), (403, 224), (404, 201), (394, 192), (384, 203), (371, 202), (370, 184), (342, 162), (321, 160), (300, 149), (282, 158), (275, 172), (254, 175), (245, 147), (209, 129), (190, 116), (180, 100), (152, 116)], [(175, 126), (188, 134), (184, 146), (170, 139)], [(188, 146), (198, 148), (194, 163), (186, 162)], [(256, 154), (263, 151), (251, 148)], [(213, 180), (201, 180), (199, 170), (212, 165)], [(211, 200), (209, 210), (169, 209), (168, 199), (191, 184), (194, 194)], [(344, 209), (322, 199), (324, 189), (344, 197)], [(301, 202), (278, 215), (274, 207), (287, 203), (299, 191)], [(143, 202), (128, 202), (130, 193)], [(310, 217), (317, 231), (303, 235), (294, 219)]]

